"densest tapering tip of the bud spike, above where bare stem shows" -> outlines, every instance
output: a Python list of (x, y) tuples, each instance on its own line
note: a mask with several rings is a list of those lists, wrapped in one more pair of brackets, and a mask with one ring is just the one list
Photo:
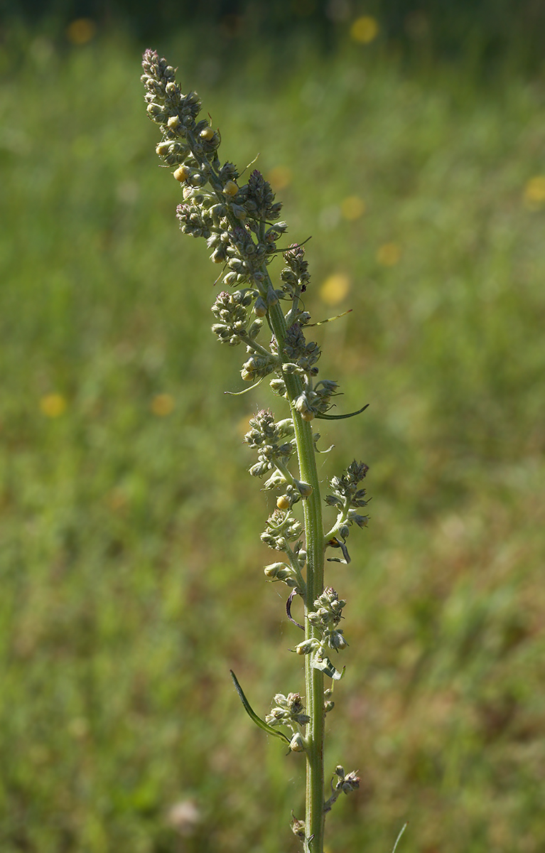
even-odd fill
[(249, 283), (265, 305), (277, 301), (278, 296), (269, 293), (264, 266), (274, 257), (276, 241), (287, 225), (273, 223), (281, 204), (275, 202), (270, 183), (256, 169), (239, 186), (236, 166), (222, 165), (217, 156), (219, 133), (207, 119), (197, 121), (197, 94), (183, 95), (175, 69), (155, 51), (146, 50), (142, 68), (148, 116), (163, 136), (157, 154), (165, 165), (177, 166), (173, 174), (183, 187), (183, 204), (177, 209), (182, 230), (206, 239), (212, 261), (225, 264), (227, 286)]

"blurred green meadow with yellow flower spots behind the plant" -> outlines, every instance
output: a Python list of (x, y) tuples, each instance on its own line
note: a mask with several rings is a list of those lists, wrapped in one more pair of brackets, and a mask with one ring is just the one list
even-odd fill
[[(309, 235), (323, 478), (366, 461), (328, 850), (545, 847), (545, 86), (539, 3), (4, 3), (0, 850), (276, 853), (303, 768), (244, 714), (299, 690), (266, 586), (241, 353), (139, 81)], [(153, 40), (149, 41), (153, 37)], [(280, 263), (273, 264), (273, 272)], [(280, 403), (275, 409), (281, 413)], [(323, 461), (322, 461), (323, 460)]]

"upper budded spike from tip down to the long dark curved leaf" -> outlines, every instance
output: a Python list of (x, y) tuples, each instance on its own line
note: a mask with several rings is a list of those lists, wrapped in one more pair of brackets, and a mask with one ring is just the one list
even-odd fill
[[(229, 304), (221, 293), (213, 307), (217, 323), (212, 330), (222, 343), (245, 342), (249, 357), (241, 368), (242, 379), (255, 382), (277, 374), (279, 393), (286, 393), (282, 376), (298, 373), (304, 389), (297, 401), (302, 417), (310, 421), (330, 407), (337, 383), (322, 381), (313, 386), (320, 348), (306, 343), (301, 326), (309, 322), (300, 296), (309, 281), (304, 249), (293, 245), (283, 252), (286, 266), (281, 270), (281, 287), (275, 289), (267, 265), (279, 250), (277, 241), (286, 233), (287, 224), (275, 222), (281, 204), (263, 175), (256, 169), (246, 184), (239, 185), (239, 171), (232, 163), (221, 163), (217, 155), (220, 136), (207, 119), (198, 121), (200, 100), (195, 92), (183, 95), (175, 81), (175, 69), (152, 50), (142, 61), (142, 81), (146, 89), (148, 115), (159, 125), (163, 138), (156, 151), (165, 165), (176, 166), (174, 177), (183, 188), (183, 204), (177, 218), (185, 234), (203, 237), (215, 264), (223, 264), (223, 284), (237, 287)], [(287, 312), (287, 336), (281, 352), (267, 351), (256, 344), (260, 325), (248, 328), (247, 310), (264, 317), (280, 299), (292, 305)]]

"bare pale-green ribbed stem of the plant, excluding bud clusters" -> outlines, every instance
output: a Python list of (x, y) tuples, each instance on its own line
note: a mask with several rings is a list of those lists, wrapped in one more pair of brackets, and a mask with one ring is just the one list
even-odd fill
[[(278, 341), (279, 351), (286, 335), (286, 322), (280, 305), (272, 305), (269, 310), (270, 325)], [(304, 498), (304, 531), (306, 538), (306, 596), (304, 614), (313, 609), (313, 603), (323, 592), (324, 537), (322, 522), (322, 502), (320, 482), (316, 468), (316, 451), (312, 438), (312, 428), (304, 421), (294, 402), (302, 390), (301, 381), (296, 374), (284, 376), (287, 395), (292, 410), (293, 427), (299, 456), (299, 476), (312, 486), (310, 497)], [(320, 632), (307, 618), (304, 619), (306, 639), (321, 639)], [(311, 665), (310, 654), (304, 657), (304, 681), (306, 688), (306, 706), (310, 722), (306, 732), (306, 809), (304, 853), (322, 853), (323, 851), (323, 673)]]

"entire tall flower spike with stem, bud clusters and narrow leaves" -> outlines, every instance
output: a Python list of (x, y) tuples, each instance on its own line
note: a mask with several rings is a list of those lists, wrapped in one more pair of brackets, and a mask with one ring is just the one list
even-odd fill
[[(299, 623), (291, 616), (293, 597), (299, 595), (304, 602), (304, 625), (299, 625), (304, 629), (304, 641), (299, 642), (295, 652), (304, 656), (306, 709), (299, 693), (276, 693), (272, 711), (263, 720), (253, 711), (232, 675), (252, 721), (287, 742), (290, 752), (304, 752), (305, 818), (302, 821), (293, 817), (292, 829), (303, 841), (304, 853), (322, 853), (325, 815), (340, 793), (356, 790), (360, 781), (355, 771), (345, 774), (339, 764), (334, 769), (330, 796), (324, 798), (324, 721), (333, 709), (333, 689), (324, 691), (324, 676), (332, 680), (332, 686), (339, 681), (345, 670), (337, 670), (329, 656), (347, 645), (344, 632), (339, 629), (346, 602), (332, 587), (324, 589), (324, 559), (326, 548), (340, 548), (343, 559), (329, 560), (350, 562), (345, 543), (351, 525), (364, 527), (368, 522), (368, 517), (359, 512), (367, 505), (365, 489), (358, 488), (368, 467), (353, 461), (342, 476), (330, 480), (332, 494), (324, 500), (336, 508), (337, 519), (324, 535), (316, 468), (316, 442), (320, 436), (313, 432), (311, 424), (316, 419), (333, 420), (359, 412), (327, 414), (338, 386), (332, 380), (316, 382), (320, 347), (304, 337), (310, 314), (304, 310), (301, 295), (310, 279), (308, 264), (302, 246), (276, 248), (287, 224), (274, 223), (281, 205), (275, 202), (270, 184), (257, 170), (252, 171), (246, 184), (237, 183), (241, 176), (235, 165), (222, 165), (217, 157), (219, 133), (206, 119), (196, 120), (200, 112), (196, 93), (183, 95), (175, 82), (174, 69), (154, 51), (146, 51), (142, 67), (148, 115), (162, 131), (157, 154), (165, 165), (176, 167), (173, 175), (183, 188), (184, 203), (177, 209), (181, 229), (206, 239), (212, 249), (212, 261), (223, 264), (223, 284), (239, 288), (217, 295), (212, 305), (217, 322), (212, 331), (221, 343), (246, 345), (249, 357), (242, 365), (242, 379), (257, 384), (272, 376), (271, 390), (289, 406), (290, 417), (281, 421), (275, 421), (270, 410), (259, 411), (251, 418), (244, 440), (258, 451), (258, 462), (250, 468), (252, 476), (268, 473), (264, 488), (281, 492), (261, 539), (284, 554), (285, 562), (265, 566), (264, 572), (270, 581), (286, 583), (290, 589), (287, 615), (296, 625)], [(281, 270), (281, 285), (275, 287), (268, 267), (279, 252), (286, 265)], [(288, 303), (286, 313), (282, 302)], [(256, 340), (265, 321), (272, 333), (269, 345)], [(299, 463), (298, 477), (290, 471), (291, 457)], [(303, 524), (293, 511), (298, 504), (303, 509)], [(286, 728), (289, 734), (282, 730)]]

